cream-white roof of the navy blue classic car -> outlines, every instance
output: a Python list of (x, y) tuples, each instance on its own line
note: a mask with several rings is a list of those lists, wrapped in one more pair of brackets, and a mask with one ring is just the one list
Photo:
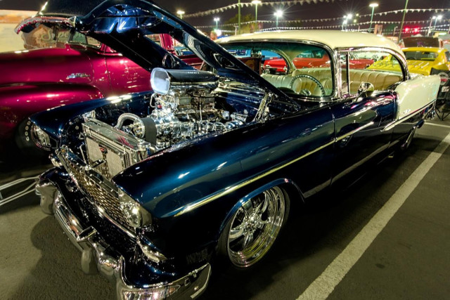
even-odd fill
[(316, 41), (328, 47), (353, 48), (353, 47), (383, 47), (389, 48), (402, 55), (401, 49), (390, 39), (367, 32), (342, 32), (339, 30), (288, 30), (255, 32), (240, 34), (231, 37), (217, 39), (218, 44), (226, 44), (234, 41), (262, 41), (262, 40), (295, 40)]

